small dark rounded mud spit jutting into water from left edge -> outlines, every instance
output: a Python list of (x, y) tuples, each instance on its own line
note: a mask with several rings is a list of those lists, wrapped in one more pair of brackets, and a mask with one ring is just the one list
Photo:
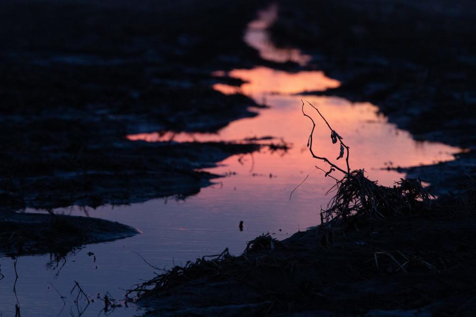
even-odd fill
[(131, 237), (136, 229), (118, 222), (67, 215), (0, 211), (0, 255), (65, 255), (87, 243)]

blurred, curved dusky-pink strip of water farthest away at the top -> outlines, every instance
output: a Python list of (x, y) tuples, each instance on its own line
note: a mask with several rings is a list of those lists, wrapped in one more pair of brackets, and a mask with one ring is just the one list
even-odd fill
[(292, 61), (301, 66), (306, 65), (311, 60), (310, 55), (302, 54), (301, 51), (294, 48), (277, 48), (271, 41), (268, 29), (277, 18), (278, 6), (276, 4), (259, 11), (258, 18), (248, 23), (244, 41), (250, 47), (256, 49), (263, 59), (278, 63)]

